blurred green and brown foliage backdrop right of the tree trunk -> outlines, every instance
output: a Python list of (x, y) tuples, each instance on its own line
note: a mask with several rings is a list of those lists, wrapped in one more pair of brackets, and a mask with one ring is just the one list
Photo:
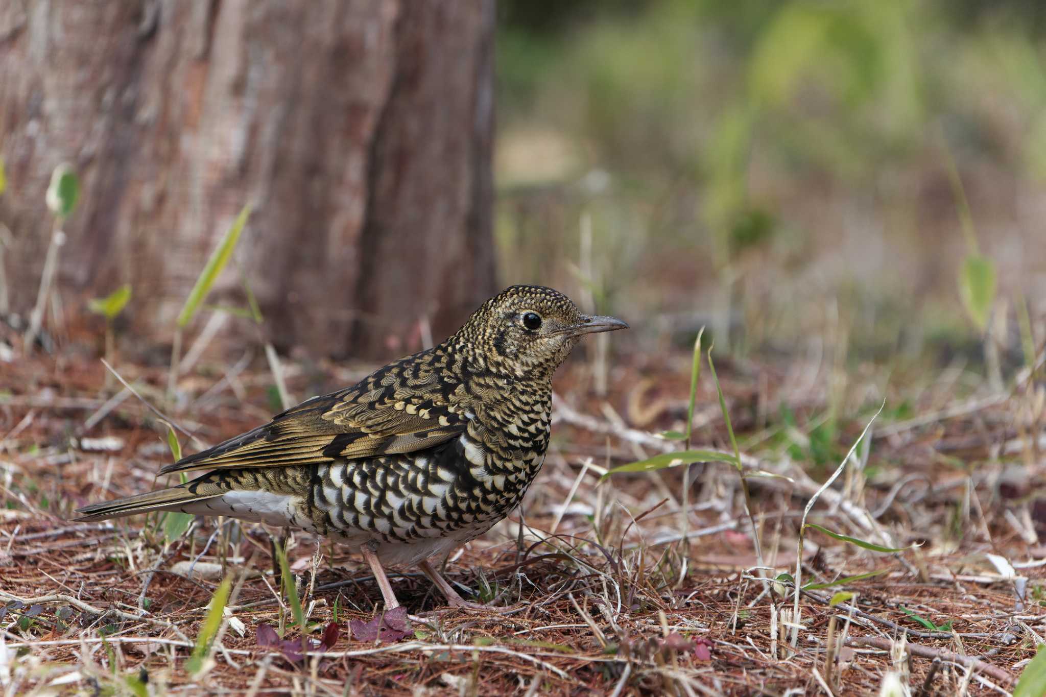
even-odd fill
[(992, 294), (977, 284), (969, 320), (963, 228), (978, 218), (991, 259), (999, 236), (983, 220), (1006, 204), (984, 203), (1046, 178), (1040, 3), (511, 0), (499, 11), (506, 281), (569, 278), (555, 260), (577, 258), (589, 213), (605, 297), (721, 305), (748, 333), (741, 346), (803, 335), (827, 298), (862, 350), (918, 352), (956, 319), (977, 333)]

